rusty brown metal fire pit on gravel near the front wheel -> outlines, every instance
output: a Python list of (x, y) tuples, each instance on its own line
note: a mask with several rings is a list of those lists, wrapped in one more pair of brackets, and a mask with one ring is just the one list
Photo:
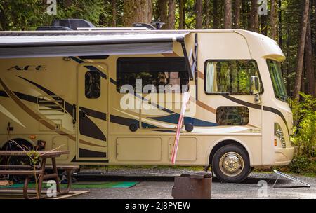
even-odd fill
[(206, 172), (175, 177), (172, 196), (175, 199), (210, 199), (212, 175)]

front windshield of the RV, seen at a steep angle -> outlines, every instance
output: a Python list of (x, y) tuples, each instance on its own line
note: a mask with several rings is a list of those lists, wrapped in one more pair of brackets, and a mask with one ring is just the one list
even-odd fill
[(281, 64), (275, 60), (267, 60), (275, 97), (287, 102), (287, 90), (281, 72)]

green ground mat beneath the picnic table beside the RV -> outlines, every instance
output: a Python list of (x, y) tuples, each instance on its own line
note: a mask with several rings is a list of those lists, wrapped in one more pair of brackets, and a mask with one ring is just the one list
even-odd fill
[[(98, 183), (74, 183), (71, 188), (130, 188), (138, 182), (98, 182)], [(0, 188), (23, 188), (24, 184), (13, 184), (12, 186), (0, 186)], [(67, 184), (60, 184), (61, 188), (67, 188)], [(43, 183), (43, 188), (48, 188)], [(35, 188), (35, 184), (29, 184), (29, 188)]]

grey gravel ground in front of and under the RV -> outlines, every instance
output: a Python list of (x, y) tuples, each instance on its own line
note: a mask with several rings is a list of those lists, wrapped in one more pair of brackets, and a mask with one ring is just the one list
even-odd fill
[[(86, 173), (87, 172), (87, 173)], [(105, 174), (88, 175), (96, 171), (86, 170), (86, 176), (78, 176), (79, 181), (138, 181), (136, 186), (131, 188), (91, 188), (90, 193), (78, 195), (72, 199), (101, 198), (101, 199), (138, 199), (138, 198), (171, 198), (171, 188), (173, 178), (180, 174), (192, 173), (196, 171), (186, 169), (171, 168), (137, 168), (137, 169), (113, 169)], [(100, 171), (99, 171), (100, 172)], [(311, 185), (310, 188), (302, 187), (302, 184), (281, 177), (275, 186), (272, 185), (277, 178), (274, 173), (251, 173), (249, 177), (241, 184), (221, 183), (216, 177), (212, 182), (212, 199), (223, 198), (316, 198), (316, 178), (295, 176), (301, 181)], [(266, 193), (258, 193), (264, 190), (259, 181), (267, 183)], [(263, 182), (263, 183), (265, 183)], [(263, 195), (263, 197), (261, 196)]]

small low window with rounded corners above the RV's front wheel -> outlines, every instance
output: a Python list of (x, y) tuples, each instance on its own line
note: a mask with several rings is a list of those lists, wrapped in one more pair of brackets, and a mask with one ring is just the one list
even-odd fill
[(249, 109), (247, 107), (218, 107), (216, 123), (218, 125), (247, 125)]

